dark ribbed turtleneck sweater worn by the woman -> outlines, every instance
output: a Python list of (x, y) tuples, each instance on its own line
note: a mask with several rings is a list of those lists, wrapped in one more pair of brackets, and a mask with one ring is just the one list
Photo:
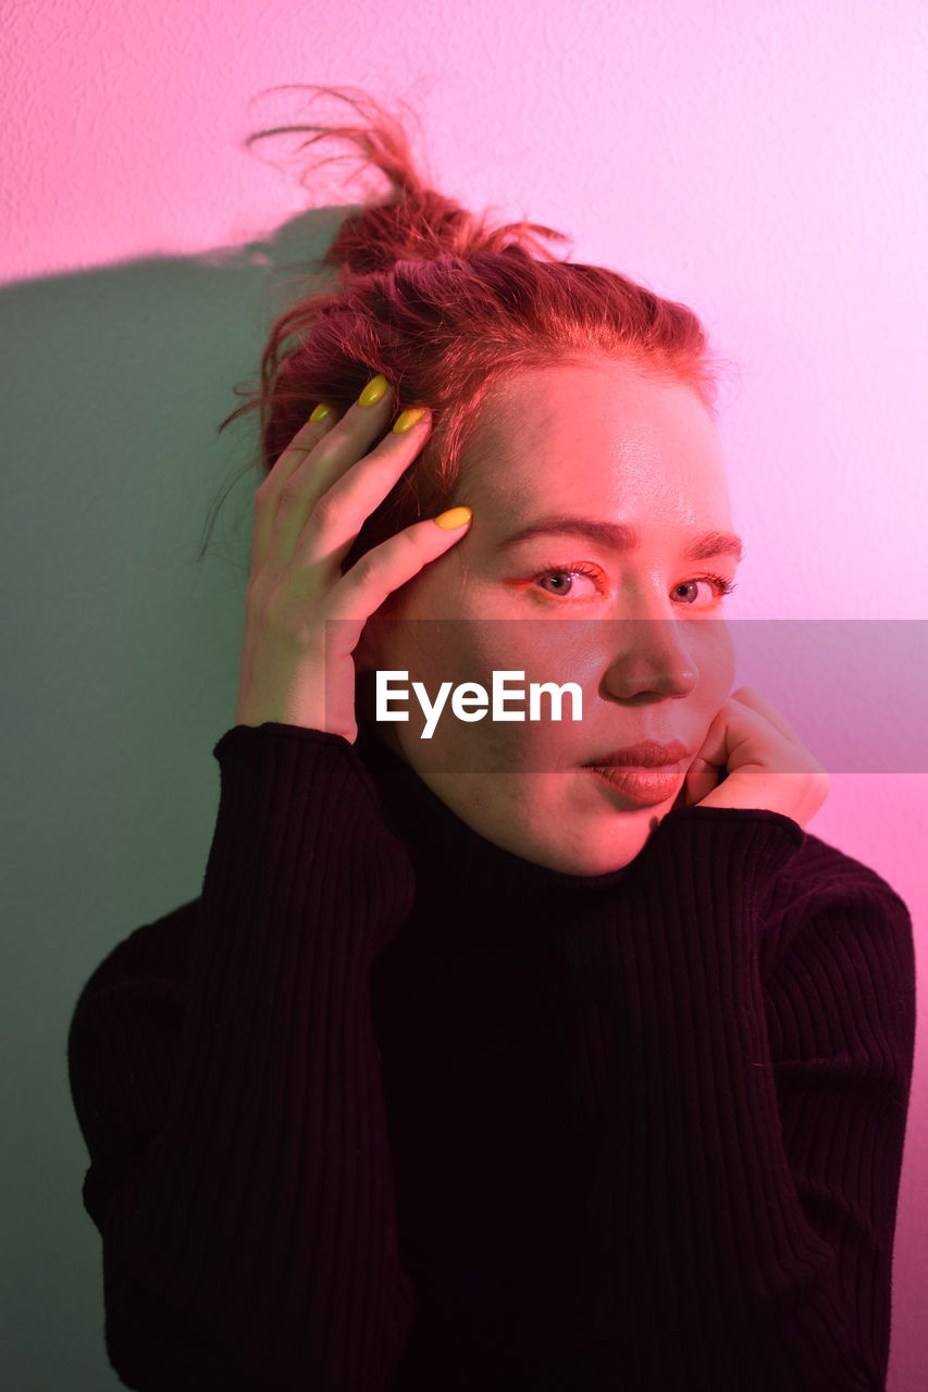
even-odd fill
[(68, 1036), (138, 1392), (876, 1392), (908, 910), (764, 810), (621, 870), (486, 841), (376, 736), (237, 725), (198, 899)]

